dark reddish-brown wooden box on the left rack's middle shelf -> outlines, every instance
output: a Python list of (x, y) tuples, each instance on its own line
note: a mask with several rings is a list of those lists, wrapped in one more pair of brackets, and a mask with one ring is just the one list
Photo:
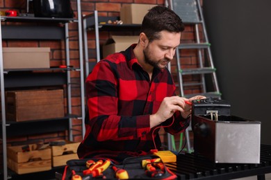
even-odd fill
[(64, 116), (63, 89), (6, 91), (7, 120), (26, 121)]

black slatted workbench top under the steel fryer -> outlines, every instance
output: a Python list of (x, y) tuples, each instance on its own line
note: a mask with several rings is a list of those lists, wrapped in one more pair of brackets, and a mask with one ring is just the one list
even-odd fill
[(257, 176), (265, 179), (271, 173), (271, 145), (261, 145), (261, 158), (258, 164), (213, 163), (195, 153), (179, 154), (176, 163), (166, 163), (178, 179), (237, 179)]

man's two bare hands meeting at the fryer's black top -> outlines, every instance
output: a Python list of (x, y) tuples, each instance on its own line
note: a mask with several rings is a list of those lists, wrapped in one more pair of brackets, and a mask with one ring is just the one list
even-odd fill
[(187, 118), (191, 114), (191, 105), (187, 102), (192, 100), (204, 99), (205, 96), (194, 96), (192, 98), (183, 98), (180, 96), (172, 96), (164, 98), (156, 112), (150, 116), (150, 127), (154, 127), (171, 118), (175, 111), (181, 111), (181, 116)]

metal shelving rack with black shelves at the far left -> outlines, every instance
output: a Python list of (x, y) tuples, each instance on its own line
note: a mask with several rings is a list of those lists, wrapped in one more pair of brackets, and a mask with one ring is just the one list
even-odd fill
[[(8, 179), (8, 167), (7, 167), (7, 150), (6, 150), (6, 138), (8, 136), (15, 136), (16, 134), (30, 133), (35, 134), (37, 132), (54, 132), (68, 129), (69, 130), (69, 140), (72, 141), (72, 118), (84, 119), (85, 117), (85, 91), (84, 91), (84, 76), (83, 76), (83, 45), (82, 45), (82, 25), (81, 25), (81, 2), (77, 0), (77, 13), (78, 19), (67, 19), (67, 18), (43, 18), (43, 17), (0, 17), (1, 21), (14, 21), (14, 22), (42, 22), (42, 23), (62, 23), (65, 24), (64, 32), (60, 28), (55, 26), (33, 26), (31, 28), (26, 26), (5, 26), (2, 30), (0, 24), (0, 84), (1, 84), (1, 133), (2, 133), (2, 146), (3, 146), (3, 179)], [(3, 69), (3, 51), (2, 51), (2, 38), (6, 39), (60, 39), (65, 40), (65, 50), (66, 50), (66, 63), (69, 66), (69, 29), (68, 24), (71, 22), (78, 23), (78, 32), (79, 32), (79, 68), (67, 68), (67, 69)], [(47, 28), (44, 28), (47, 27)], [(52, 33), (54, 32), (54, 33)], [(22, 36), (24, 34), (24, 36)], [(2, 36), (3, 35), (3, 36)], [(64, 35), (64, 36), (63, 36)], [(65, 73), (61, 73), (65, 71)], [(33, 77), (31, 74), (27, 74), (29, 71), (44, 71), (44, 73), (39, 73), (38, 78)], [(45, 73), (51, 71), (51, 73)], [(80, 71), (80, 84), (81, 84), (81, 116), (72, 115), (72, 100), (71, 100), (71, 86), (72, 82), (70, 81), (70, 71)], [(16, 73), (26, 73), (25, 79), (28, 80), (29, 84), (22, 83), (22, 77), (18, 76)], [(6, 75), (6, 77), (5, 77)], [(19, 78), (18, 78), (19, 77)], [(23, 79), (24, 79), (23, 78)], [(49, 79), (49, 82), (48, 80)], [(8, 83), (5, 83), (7, 80)], [(11, 81), (12, 80), (12, 81)], [(13, 87), (16, 83), (16, 87), (27, 87), (33, 84), (38, 86), (47, 86), (47, 85), (58, 85), (58, 84), (67, 84), (67, 112), (68, 114), (63, 118), (55, 118), (49, 120), (37, 120), (29, 122), (8, 122), (6, 120), (6, 105), (5, 105), (5, 88)], [(67, 123), (68, 120), (68, 123)], [(31, 125), (31, 132), (27, 127)], [(54, 126), (54, 128), (48, 129), (48, 125)], [(37, 128), (35, 128), (37, 127)], [(39, 129), (38, 129), (39, 127)], [(7, 129), (13, 129), (15, 134), (9, 134)], [(82, 122), (82, 134), (84, 135), (84, 123)]]

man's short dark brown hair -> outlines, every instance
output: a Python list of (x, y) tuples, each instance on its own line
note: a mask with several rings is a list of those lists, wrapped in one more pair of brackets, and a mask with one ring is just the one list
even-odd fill
[(149, 42), (160, 39), (160, 32), (180, 33), (184, 30), (183, 21), (173, 10), (164, 6), (154, 6), (142, 21), (141, 33), (147, 35)]

